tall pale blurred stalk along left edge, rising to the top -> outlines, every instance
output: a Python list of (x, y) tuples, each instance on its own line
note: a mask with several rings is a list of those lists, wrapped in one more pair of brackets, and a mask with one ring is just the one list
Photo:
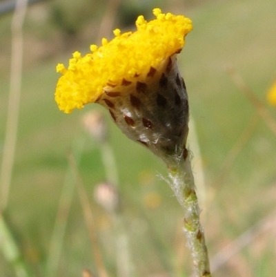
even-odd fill
[(1, 164), (1, 207), (3, 211), (8, 204), (10, 182), (14, 164), (14, 153), (17, 144), (17, 126), (19, 120), (19, 104), (21, 96), (21, 78), (23, 61), (23, 32), (28, 0), (17, 0), (12, 17), (12, 60), (10, 69), (10, 94), (8, 102), (8, 118), (6, 136), (3, 146), (3, 159)]

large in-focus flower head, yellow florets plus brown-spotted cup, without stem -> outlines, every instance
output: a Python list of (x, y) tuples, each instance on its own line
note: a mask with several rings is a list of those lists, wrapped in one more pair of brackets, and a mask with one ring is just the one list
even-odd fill
[(55, 100), (65, 113), (105, 106), (125, 135), (171, 164), (187, 153), (188, 95), (176, 55), (193, 27), (182, 15), (153, 13), (149, 22), (138, 17), (136, 32), (116, 29), (112, 41), (92, 44), (84, 57), (75, 52), (68, 68), (58, 64)]

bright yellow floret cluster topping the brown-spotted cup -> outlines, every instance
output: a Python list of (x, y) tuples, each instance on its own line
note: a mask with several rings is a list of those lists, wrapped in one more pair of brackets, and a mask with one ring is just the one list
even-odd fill
[(143, 16), (136, 21), (137, 31), (102, 40), (102, 46), (90, 46), (91, 52), (81, 57), (73, 53), (69, 66), (57, 65), (59, 78), (55, 100), (61, 111), (70, 113), (74, 108), (96, 102), (105, 88), (140, 81), (159, 67), (168, 57), (181, 51), (185, 36), (193, 29), (190, 19), (182, 15), (163, 14), (153, 10), (156, 19), (147, 22)]

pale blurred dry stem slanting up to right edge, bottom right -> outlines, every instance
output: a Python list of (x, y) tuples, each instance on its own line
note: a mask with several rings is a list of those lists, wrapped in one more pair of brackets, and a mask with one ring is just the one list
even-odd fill
[(224, 247), (224, 249), (221, 249), (221, 251), (219, 251), (213, 259), (210, 260), (210, 267), (212, 268), (212, 271), (214, 272), (219, 269), (219, 267), (224, 265), (231, 257), (253, 242), (261, 233), (265, 233), (275, 227), (275, 220), (276, 211), (273, 211), (266, 216), (266, 218), (263, 218), (253, 225), (253, 227), (250, 227), (242, 233), (241, 236), (233, 240), (230, 245)]

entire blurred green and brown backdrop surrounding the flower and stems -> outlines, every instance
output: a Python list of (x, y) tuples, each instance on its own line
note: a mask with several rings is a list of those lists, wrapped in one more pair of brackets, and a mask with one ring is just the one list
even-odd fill
[[(83, 116), (95, 110), (108, 124), (119, 175), (119, 216), (133, 276), (180, 277), (193, 272), (181, 233), (181, 208), (160, 177), (166, 178), (164, 164), (126, 139), (103, 108), (87, 105), (65, 115), (54, 99), (57, 63), (68, 64), (75, 50), (85, 54), (100, 37), (112, 38), (114, 28), (132, 30), (138, 15), (152, 19), (156, 7), (193, 20), (179, 68), (188, 88), (194, 123), (190, 129), (198, 138), (197, 144), (195, 135), (189, 137), (190, 149), (200, 149), (193, 164), (213, 276), (265, 277), (276, 271), (276, 137), (227, 70), (235, 68), (276, 120), (276, 108), (266, 103), (276, 75), (276, 1), (52, 0), (29, 6), (23, 25), (18, 136), (10, 197), (3, 211), (29, 276), (73, 277), (85, 268), (97, 271), (68, 166), (69, 151), (79, 161), (104, 265), (109, 276), (118, 276), (114, 221), (94, 196), (97, 184), (106, 180), (102, 146), (82, 123)], [(11, 21), (12, 12), (0, 15), (0, 157), (8, 115)], [(75, 190), (72, 199), (66, 198), (68, 217), (57, 218), (66, 186)], [(65, 223), (64, 236), (55, 241), (54, 226)], [(57, 242), (60, 255), (50, 247)], [(16, 265), (2, 250), (0, 276), (17, 276)], [(56, 257), (57, 268), (49, 265), (51, 257)], [(224, 262), (220, 264), (219, 258)]]

